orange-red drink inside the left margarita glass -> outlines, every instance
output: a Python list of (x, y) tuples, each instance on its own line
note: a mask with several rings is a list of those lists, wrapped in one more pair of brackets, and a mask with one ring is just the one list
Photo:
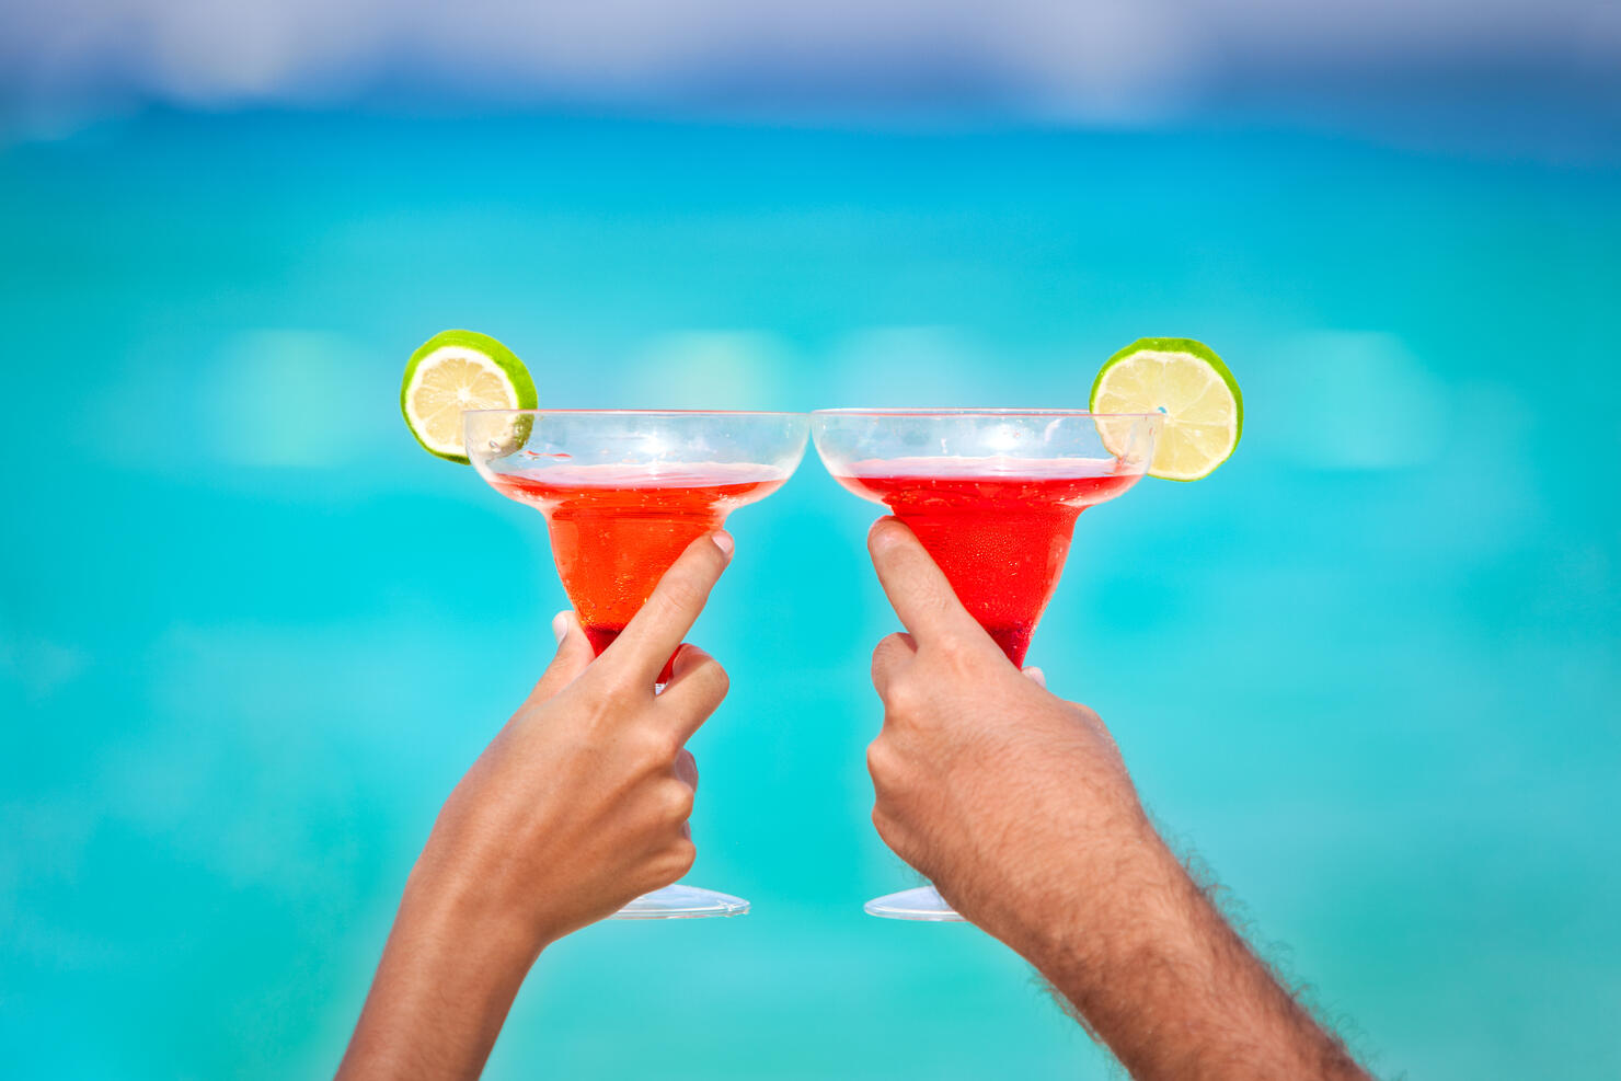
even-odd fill
[[(598, 653), (619, 637), (687, 545), (783, 485), (762, 467), (712, 467), (648, 478), (629, 467), (553, 468), (493, 480), (538, 507), (562, 588)], [(660, 681), (669, 677), (669, 666)]]

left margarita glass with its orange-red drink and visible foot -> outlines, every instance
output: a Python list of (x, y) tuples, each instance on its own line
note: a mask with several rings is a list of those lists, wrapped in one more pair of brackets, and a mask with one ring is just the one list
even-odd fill
[[(804, 457), (809, 418), (470, 410), (462, 423), (478, 475), (546, 515), (562, 588), (601, 653), (687, 545), (783, 486)], [(742, 898), (678, 883), (631, 901), (616, 919), (747, 911)]]

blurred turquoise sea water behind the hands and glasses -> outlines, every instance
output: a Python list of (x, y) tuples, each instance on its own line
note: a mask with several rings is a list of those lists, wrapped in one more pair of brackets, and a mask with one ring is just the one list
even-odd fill
[[(1621, 172), (1256, 133), (154, 113), (0, 151), (8, 1076), (336, 1063), (550, 656), (541, 522), (425, 454), (472, 326), (580, 407), (1081, 405), (1216, 345), (1237, 457), (1083, 517), (1031, 661), (1381, 1075), (1603, 1078), (1621, 1011)], [(867, 919), (872, 509), (812, 457), (695, 639), (692, 880), (491, 1078), (1107, 1076), (997, 943)]]

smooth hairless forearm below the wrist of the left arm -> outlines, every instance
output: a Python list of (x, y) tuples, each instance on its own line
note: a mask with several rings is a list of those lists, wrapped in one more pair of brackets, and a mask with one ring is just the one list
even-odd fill
[(477, 891), (418, 867), (339, 1081), (477, 1078), (538, 953)]

